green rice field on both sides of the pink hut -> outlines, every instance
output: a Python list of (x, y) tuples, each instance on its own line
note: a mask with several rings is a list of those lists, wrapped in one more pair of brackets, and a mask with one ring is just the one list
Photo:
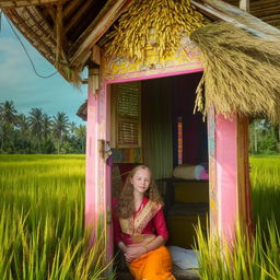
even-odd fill
[[(1, 280), (103, 279), (103, 249), (85, 250), (84, 164), (84, 155), (0, 155)], [(201, 279), (280, 279), (280, 156), (250, 165), (255, 237), (237, 232), (221, 256), (198, 229)]]

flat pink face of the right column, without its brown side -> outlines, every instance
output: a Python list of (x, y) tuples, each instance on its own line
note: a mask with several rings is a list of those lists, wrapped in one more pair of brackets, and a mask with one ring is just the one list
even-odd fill
[(215, 116), (215, 168), (218, 231), (220, 236), (234, 238), (237, 214), (237, 119)]

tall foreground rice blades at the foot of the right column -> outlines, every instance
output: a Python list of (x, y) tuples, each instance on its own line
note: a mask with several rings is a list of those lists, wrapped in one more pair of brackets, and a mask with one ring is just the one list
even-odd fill
[(257, 223), (253, 238), (237, 229), (235, 240), (229, 243), (209, 232), (205, 235), (199, 223), (196, 250), (200, 279), (280, 279), (280, 235), (275, 221), (268, 222), (268, 226), (270, 234), (264, 236)]

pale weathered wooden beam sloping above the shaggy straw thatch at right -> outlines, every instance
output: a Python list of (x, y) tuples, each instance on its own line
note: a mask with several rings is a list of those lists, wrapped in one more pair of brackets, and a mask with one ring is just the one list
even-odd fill
[(221, 0), (190, 0), (199, 10), (210, 13), (220, 20), (231, 22), (264, 39), (280, 37), (280, 31), (256, 16)]

